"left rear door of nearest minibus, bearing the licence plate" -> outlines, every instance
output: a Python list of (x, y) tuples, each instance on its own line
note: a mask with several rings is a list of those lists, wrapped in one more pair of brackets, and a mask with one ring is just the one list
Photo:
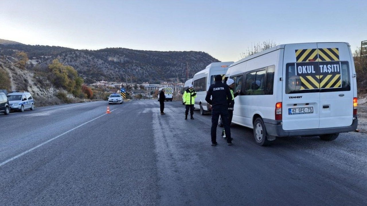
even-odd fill
[(284, 130), (317, 129), (320, 123), (317, 43), (287, 44), (283, 58)]

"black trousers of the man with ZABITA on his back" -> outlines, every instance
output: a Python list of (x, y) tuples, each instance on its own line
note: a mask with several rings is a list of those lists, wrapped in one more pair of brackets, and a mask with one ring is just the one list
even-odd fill
[(218, 126), (218, 119), (219, 115), (222, 117), (222, 122), (224, 125), (224, 130), (226, 131), (226, 137), (227, 137), (227, 143), (232, 142), (231, 136), (230, 136), (230, 128), (229, 128), (229, 122), (228, 122), (228, 108), (222, 109), (222, 110), (212, 110), (211, 111), (211, 143), (217, 143), (217, 126)]

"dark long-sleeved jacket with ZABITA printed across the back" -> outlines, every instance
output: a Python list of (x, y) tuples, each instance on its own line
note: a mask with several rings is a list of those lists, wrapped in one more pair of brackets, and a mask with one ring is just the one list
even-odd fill
[(227, 84), (215, 81), (215, 84), (210, 85), (205, 100), (211, 104), (213, 110), (228, 109), (232, 95)]

